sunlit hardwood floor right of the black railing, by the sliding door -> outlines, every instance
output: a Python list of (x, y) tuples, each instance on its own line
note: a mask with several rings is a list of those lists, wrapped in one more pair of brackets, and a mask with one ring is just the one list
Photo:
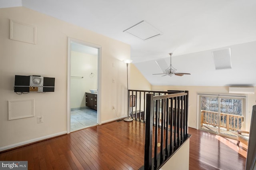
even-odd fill
[(189, 128), (190, 170), (244, 170), (247, 146), (237, 140)]

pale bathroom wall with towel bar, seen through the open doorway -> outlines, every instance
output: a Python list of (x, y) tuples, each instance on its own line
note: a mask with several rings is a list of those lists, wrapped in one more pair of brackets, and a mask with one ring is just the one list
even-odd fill
[(98, 89), (98, 56), (71, 51), (71, 76), (70, 108), (85, 107), (85, 92)]

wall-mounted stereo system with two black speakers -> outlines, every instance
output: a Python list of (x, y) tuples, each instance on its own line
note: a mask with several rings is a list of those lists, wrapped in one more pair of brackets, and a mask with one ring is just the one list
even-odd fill
[(55, 78), (15, 75), (14, 92), (54, 92)]

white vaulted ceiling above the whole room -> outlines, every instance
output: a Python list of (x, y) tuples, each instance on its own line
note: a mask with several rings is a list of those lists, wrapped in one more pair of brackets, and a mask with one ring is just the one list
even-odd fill
[[(1, 8), (13, 6), (130, 44), (133, 63), (153, 85), (256, 85), (256, 0), (0, 0)], [(123, 32), (142, 20), (162, 35), (143, 41)], [(231, 47), (232, 69), (216, 71), (211, 51), (223, 47)], [(170, 62), (170, 52), (177, 72), (191, 75), (152, 75), (161, 71), (155, 60)]]

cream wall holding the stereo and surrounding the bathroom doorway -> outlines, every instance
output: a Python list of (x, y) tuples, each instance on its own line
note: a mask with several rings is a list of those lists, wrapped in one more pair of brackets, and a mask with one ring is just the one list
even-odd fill
[[(36, 26), (36, 45), (9, 39), (10, 19)], [(101, 121), (126, 115), (126, 65), (130, 45), (24, 7), (0, 9), (0, 150), (67, 132), (68, 37), (102, 47)], [(114, 63), (114, 67), (113, 64)], [(55, 91), (14, 93), (14, 75), (55, 77)], [(112, 78), (116, 83), (112, 83)], [(8, 100), (35, 99), (35, 117), (8, 121)], [(38, 124), (36, 117), (43, 116)]]

